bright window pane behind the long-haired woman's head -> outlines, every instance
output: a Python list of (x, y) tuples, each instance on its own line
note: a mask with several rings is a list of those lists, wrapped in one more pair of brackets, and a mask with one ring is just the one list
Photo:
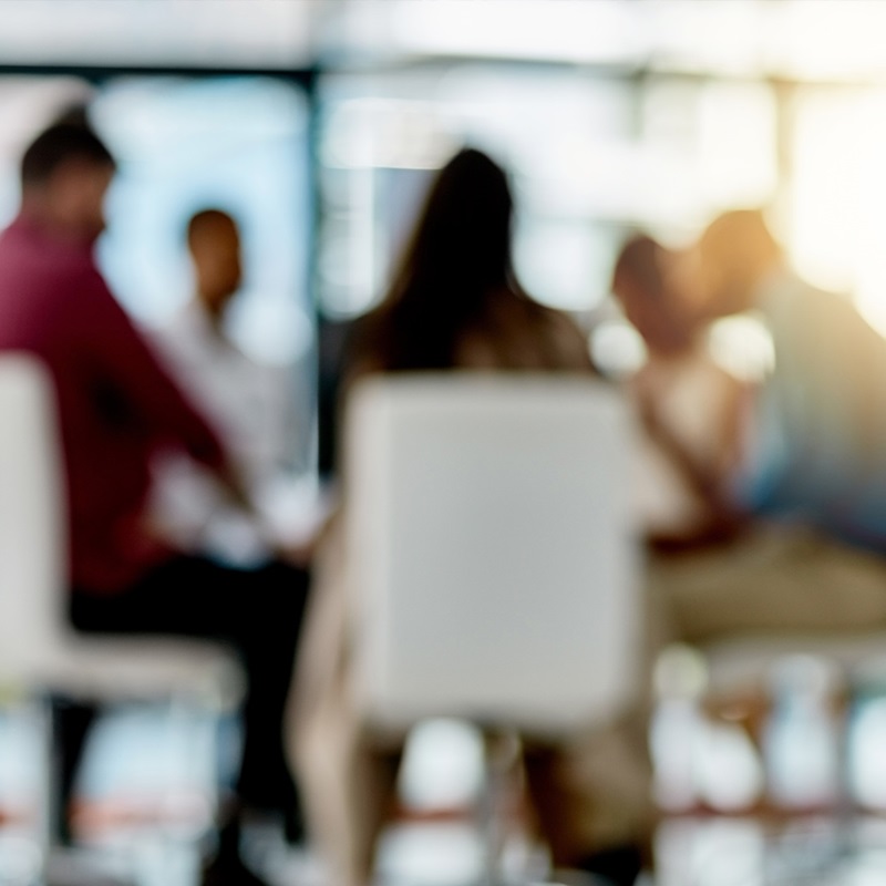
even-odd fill
[(625, 84), (519, 66), (342, 75), (323, 82), (321, 114), (328, 315), (353, 316), (380, 297), (433, 169), (462, 145), (512, 173), (527, 289), (574, 310), (604, 295), (608, 254), (633, 203), (609, 168), (629, 138)]

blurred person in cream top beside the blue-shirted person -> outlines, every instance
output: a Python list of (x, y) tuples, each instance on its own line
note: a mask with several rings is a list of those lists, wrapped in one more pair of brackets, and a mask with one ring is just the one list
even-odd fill
[(638, 519), (656, 549), (681, 550), (742, 532), (749, 515), (730, 499), (750, 388), (714, 360), (705, 327), (674, 282), (680, 256), (640, 234), (616, 258), (611, 291), (646, 346), (627, 391), (640, 439)]

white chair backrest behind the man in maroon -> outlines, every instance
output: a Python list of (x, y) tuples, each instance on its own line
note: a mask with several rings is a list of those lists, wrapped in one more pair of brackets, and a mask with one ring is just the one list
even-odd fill
[(0, 674), (27, 677), (62, 631), (65, 506), (54, 395), (33, 357), (0, 354)]

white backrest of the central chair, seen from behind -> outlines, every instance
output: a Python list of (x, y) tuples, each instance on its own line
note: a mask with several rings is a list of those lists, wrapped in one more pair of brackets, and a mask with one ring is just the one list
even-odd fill
[(638, 686), (621, 395), (575, 377), (375, 377), (346, 418), (358, 702), (563, 733)]

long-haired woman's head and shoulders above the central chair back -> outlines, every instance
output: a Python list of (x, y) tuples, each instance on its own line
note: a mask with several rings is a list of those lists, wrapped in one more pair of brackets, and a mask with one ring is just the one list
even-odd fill
[(358, 323), (349, 380), (370, 371), (590, 370), (578, 328), (516, 278), (513, 213), (504, 171), (480, 151), (459, 152), (435, 179), (385, 298)]

